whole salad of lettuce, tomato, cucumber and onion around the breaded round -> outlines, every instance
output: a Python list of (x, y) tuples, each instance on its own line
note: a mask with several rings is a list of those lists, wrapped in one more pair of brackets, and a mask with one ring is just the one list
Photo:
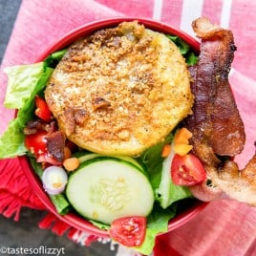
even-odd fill
[[(198, 57), (180, 37), (166, 36), (179, 47), (187, 65), (197, 63)], [(75, 211), (108, 230), (117, 243), (150, 254), (169, 220), (196, 200), (189, 186), (206, 180), (201, 161), (190, 153), (192, 134), (179, 124), (137, 157), (102, 155), (63, 139), (44, 91), (66, 52), (5, 70), (9, 82), (4, 103), (18, 111), (0, 139), (0, 159), (26, 155), (58, 214)]]

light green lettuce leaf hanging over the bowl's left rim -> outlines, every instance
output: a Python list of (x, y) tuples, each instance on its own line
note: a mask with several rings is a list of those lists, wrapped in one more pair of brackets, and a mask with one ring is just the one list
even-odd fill
[(0, 159), (26, 154), (23, 128), (34, 115), (34, 97), (42, 93), (53, 73), (53, 69), (45, 67), (43, 62), (13, 66), (5, 71), (8, 75), (8, 87), (4, 104), (7, 108), (19, 111), (0, 138)]

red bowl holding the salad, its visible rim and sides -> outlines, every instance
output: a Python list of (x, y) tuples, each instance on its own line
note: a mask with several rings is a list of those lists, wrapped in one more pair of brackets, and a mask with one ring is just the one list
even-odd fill
[[(88, 35), (92, 32), (96, 32), (101, 29), (116, 27), (122, 21), (133, 21), (138, 20), (139, 23), (144, 24), (144, 26), (148, 29), (153, 31), (174, 34), (180, 36), (187, 44), (191, 46), (191, 48), (196, 52), (199, 53), (200, 51), (200, 43), (195, 40), (193, 37), (188, 35), (185, 32), (181, 32), (178, 29), (175, 29), (169, 25), (161, 23), (159, 21), (154, 21), (151, 19), (145, 18), (137, 18), (137, 17), (118, 17), (118, 18), (111, 18), (111, 19), (104, 19), (99, 20), (93, 23), (85, 24), (81, 27), (78, 27), (72, 32), (69, 32), (62, 38), (60, 38), (57, 42), (53, 44), (53, 46), (49, 47), (44, 53), (42, 53), (38, 58), (37, 61), (44, 60), (49, 54), (61, 50), (71, 43), (73, 43), (77, 38), (81, 36)], [(28, 177), (28, 180), (31, 182), (32, 190), (38, 196), (42, 203), (47, 207), (47, 209), (52, 212), (57, 218), (61, 221), (74, 226), (75, 228), (90, 232), (96, 236), (100, 237), (108, 237), (108, 232), (101, 230), (94, 226), (93, 224), (89, 223), (82, 217), (76, 215), (75, 213), (68, 213), (66, 215), (59, 215), (54, 206), (51, 202), (49, 196), (44, 191), (41, 181), (38, 179), (37, 175), (32, 169), (30, 161), (26, 157), (19, 157), (20, 164), (25, 171), (25, 174)], [(200, 201), (195, 201), (191, 203), (186, 209), (182, 210), (182, 212), (175, 217), (174, 219), (170, 220), (168, 225), (168, 230), (174, 230), (181, 226), (182, 224), (187, 223), (191, 218), (197, 215), (203, 208), (207, 205), (207, 203), (203, 203)]]

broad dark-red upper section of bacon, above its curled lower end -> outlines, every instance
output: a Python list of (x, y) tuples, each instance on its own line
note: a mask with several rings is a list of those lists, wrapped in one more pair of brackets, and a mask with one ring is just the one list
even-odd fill
[(228, 83), (236, 50), (233, 35), (205, 18), (192, 26), (202, 44), (199, 63), (190, 70), (196, 98), (187, 121), (195, 139), (207, 140), (220, 156), (235, 156), (244, 149), (245, 127)]

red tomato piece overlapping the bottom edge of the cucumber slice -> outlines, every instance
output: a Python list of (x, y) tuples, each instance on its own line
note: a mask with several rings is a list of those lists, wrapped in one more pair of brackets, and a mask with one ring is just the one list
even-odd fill
[(145, 239), (146, 218), (141, 216), (119, 218), (111, 224), (109, 233), (121, 245), (139, 246)]

